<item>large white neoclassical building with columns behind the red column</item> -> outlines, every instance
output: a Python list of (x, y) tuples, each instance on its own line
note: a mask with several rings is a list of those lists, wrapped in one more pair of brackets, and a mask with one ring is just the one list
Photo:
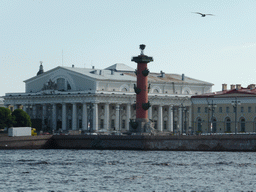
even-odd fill
[[(150, 69), (150, 67), (149, 67)], [(6, 93), (4, 105), (22, 108), (38, 130), (127, 131), (136, 118), (135, 69), (114, 64), (105, 69), (58, 66), (25, 80), (25, 93)], [(150, 72), (149, 119), (160, 132), (192, 126), (190, 97), (211, 92), (211, 83)]]

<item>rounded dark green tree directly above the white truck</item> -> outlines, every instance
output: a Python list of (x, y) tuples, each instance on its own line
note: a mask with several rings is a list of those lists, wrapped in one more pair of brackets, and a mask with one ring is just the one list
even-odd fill
[(15, 109), (12, 116), (15, 117), (14, 127), (31, 127), (30, 116), (22, 109)]

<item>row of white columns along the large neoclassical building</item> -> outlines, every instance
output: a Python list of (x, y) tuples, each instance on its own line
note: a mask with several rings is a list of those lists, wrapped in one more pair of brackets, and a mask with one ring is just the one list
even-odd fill
[[(22, 108), (31, 119), (41, 120), (42, 129), (128, 131), (130, 119), (136, 118), (132, 103), (43, 103), (7, 105)], [(148, 118), (160, 132), (188, 132), (192, 126), (191, 106), (152, 104)]]

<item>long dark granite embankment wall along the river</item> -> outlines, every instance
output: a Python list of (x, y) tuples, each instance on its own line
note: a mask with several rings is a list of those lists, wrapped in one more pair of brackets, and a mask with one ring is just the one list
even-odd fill
[(256, 151), (256, 135), (45, 135), (34, 137), (0, 137), (0, 149)]

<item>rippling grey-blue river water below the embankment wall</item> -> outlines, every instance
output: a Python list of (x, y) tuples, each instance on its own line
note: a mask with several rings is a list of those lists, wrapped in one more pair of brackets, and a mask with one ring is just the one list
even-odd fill
[(256, 153), (1, 150), (0, 191), (256, 191)]

